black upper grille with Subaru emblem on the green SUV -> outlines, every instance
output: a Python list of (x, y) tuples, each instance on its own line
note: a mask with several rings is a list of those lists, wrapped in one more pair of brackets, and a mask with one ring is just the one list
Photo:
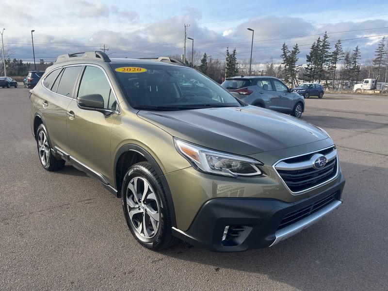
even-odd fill
[[(313, 168), (313, 162), (310, 162), (310, 160), (312, 156), (317, 153), (322, 154), (324, 156), (328, 156), (331, 154), (332, 156), (334, 156), (334, 158), (329, 160), (323, 168), (315, 169)], [(308, 166), (305, 166), (302, 169), (298, 169), (299, 165), (303, 163), (306, 164), (308, 162), (310, 162)], [(298, 193), (323, 184), (324, 182), (336, 177), (338, 169), (337, 163), (337, 154), (335, 149), (332, 147), (329, 148), (329, 151), (328, 149), (325, 149), (323, 151), (300, 156), (297, 158), (283, 160), (282, 164), (286, 164), (288, 166), (287, 170), (278, 169), (276, 168), (276, 166), (275, 169), (280, 175), (280, 177), (283, 179), (287, 187), (293, 193)], [(295, 170), (293, 168), (295, 168)]]

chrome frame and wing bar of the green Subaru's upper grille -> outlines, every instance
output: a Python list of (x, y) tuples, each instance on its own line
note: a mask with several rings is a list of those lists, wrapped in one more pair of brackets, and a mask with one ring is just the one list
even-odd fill
[[(315, 185), (315, 186), (310, 187), (310, 188), (307, 188), (307, 189), (305, 189), (305, 190), (298, 191), (298, 192), (293, 192), (293, 191), (291, 191), (291, 189), (287, 186), (286, 182), (283, 180), (283, 178), (282, 178), (282, 177), (280, 176), (280, 174), (277, 172), (277, 170), (276, 170), (276, 165), (278, 165), (278, 164), (280, 163), (280, 165), (282, 166), (282, 165), (285, 164), (285, 163), (282, 164), (281, 162), (283, 162), (283, 161), (285, 161), (285, 160), (289, 160), (289, 159), (293, 159), (293, 158), (298, 158), (298, 157), (302, 157), (302, 156), (306, 156), (306, 155), (310, 155), (310, 154), (314, 154), (314, 153), (319, 153), (320, 151), (326, 150), (326, 149), (328, 149), (328, 148), (333, 148), (333, 152), (335, 152), (335, 156), (332, 157), (332, 154), (331, 154), (331, 153), (328, 153), (328, 154), (323, 155), (323, 156), (325, 156), (326, 159), (327, 159), (327, 157), (330, 157), (330, 158), (331, 158), (330, 161), (333, 160), (333, 159), (337, 159), (337, 170), (336, 170), (336, 175), (334, 175), (332, 178), (330, 178), (330, 179), (328, 179), (328, 180), (322, 182), (321, 184)], [(310, 162), (310, 161), (308, 161), (308, 162)], [(307, 169), (308, 167), (307, 167), (307, 168), (303, 167), (303, 166), (304, 166), (304, 163), (305, 163), (305, 162), (301, 162), (301, 163), (300, 163), (301, 166), (299, 166), (299, 167), (295, 167), (295, 168), (290, 168), (290, 167), (289, 167), (289, 168), (287, 168), (287, 169), (285, 169), (285, 170), (291, 171), (291, 169), (292, 169), (292, 170)], [(298, 163), (295, 163), (295, 164), (298, 164)], [(310, 167), (312, 168), (312, 163), (310, 164)], [(315, 150), (315, 151), (308, 152), (308, 153), (304, 153), (304, 154), (301, 154), (301, 155), (283, 158), (283, 159), (280, 159), (280, 160), (278, 160), (277, 162), (275, 162), (275, 163), (272, 165), (272, 168), (274, 169), (275, 173), (277, 174), (277, 176), (278, 176), (278, 177), (280, 178), (280, 180), (282, 181), (283, 185), (286, 187), (286, 189), (287, 189), (292, 195), (300, 195), (300, 194), (304, 194), (304, 193), (309, 192), (309, 191), (311, 191), (311, 190), (313, 190), (313, 189), (317, 189), (317, 188), (319, 188), (319, 187), (321, 187), (321, 186), (323, 186), (323, 185), (325, 185), (325, 184), (327, 184), (327, 183), (330, 183), (331, 181), (333, 181), (334, 179), (336, 179), (336, 178), (338, 177), (338, 173), (339, 173), (339, 162), (338, 162), (337, 149), (336, 149), (335, 146), (328, 146), (328, 147), (322, 148), (322, 149), (320, 149), (320, 150)], [(282, 170), (282, 169), (279, 169), (279, 170)]]

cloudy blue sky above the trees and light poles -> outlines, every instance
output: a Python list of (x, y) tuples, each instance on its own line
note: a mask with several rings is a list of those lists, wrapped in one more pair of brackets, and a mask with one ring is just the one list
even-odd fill
[[(0, 0), (0, 31), (11, 59), (54, 61), (59, 54), (99, 50), (111, 57), (141, 58), (183, 54), (184, 25), (194, 38), (194, 50), (213, 59), (236, 48), (239, 61), (249, 60), (254, 30), (253, 59), (280, 63), (281, 46), (296, 43), (299, 64), (306, 62), (311, 44), (325, 31), (332, 48), (361, 51), (371, 59), (378, 42), (388, 35), (386, 0), (321, 1), (133, 1), (133, 0)], [(192, 41), (187, 40), (187, 54)]]

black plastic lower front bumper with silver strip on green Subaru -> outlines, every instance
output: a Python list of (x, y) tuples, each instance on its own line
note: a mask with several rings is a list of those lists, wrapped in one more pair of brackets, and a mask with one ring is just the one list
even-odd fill
[[(198, 211), (187, 231), (173, 227), (173, 234), (216, 252), (272, 246), (337, 209), (342, 203), (344, 185), (345, 179), (339, 172), (337, 183), (293, 203), (270, 198), (210, 199)], [(229, 226), (227, 231), (226, 226)]]

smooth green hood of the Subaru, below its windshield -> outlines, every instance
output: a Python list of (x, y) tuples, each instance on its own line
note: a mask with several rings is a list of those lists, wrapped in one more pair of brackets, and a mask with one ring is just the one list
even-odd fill
[(240, 155), (300, 146), (328, 138), (322, 130), (307, 122), (254, 106), (173, 112), (139, 111), (138, 116), (174, 137)]

